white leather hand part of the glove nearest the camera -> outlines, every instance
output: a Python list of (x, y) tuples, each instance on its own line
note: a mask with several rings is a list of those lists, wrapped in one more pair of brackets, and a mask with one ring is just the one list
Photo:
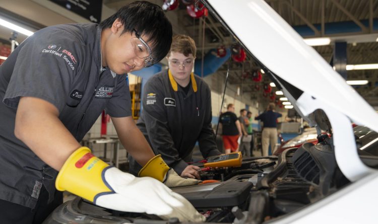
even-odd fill
[[(97, 197), (95, 204), (119, 211), (156, 214), (163, 219), (200, 222), (206, 218), (181, 195), (151, 177), (135, 177), (112, 167), (104, 179), (115, 193)], [(183, 179), (183, 178), (181, 178)]]

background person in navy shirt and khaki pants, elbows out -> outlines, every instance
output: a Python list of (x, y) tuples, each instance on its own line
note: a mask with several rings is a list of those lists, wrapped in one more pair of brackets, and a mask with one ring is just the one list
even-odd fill
[(277, 118), (282, 117), (282, 114), (274, 112), (276, 105), (270, 103), (266, 112), (255, 117), (255, 120), (261, 120), (263, 125), (263, 132), (261, 134), (263, 145), (263, 157), (268, 156), (269, 144), (272, 152), (277, 143)]

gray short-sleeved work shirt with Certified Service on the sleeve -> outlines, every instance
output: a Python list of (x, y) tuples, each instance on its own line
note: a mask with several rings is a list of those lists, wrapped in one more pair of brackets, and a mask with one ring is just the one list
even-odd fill
[(14, 135), (20, 97), (53, 104), (78, 141), (103, 110), (112, 117), (131, 116), (127, 74), (102, 69), (100, 37), (97, 24), (47, 27), (28, 37), (0, 66), (0, 199), (34, 208), (42, 184), (49, 202), (55, 190), (57, 171)]

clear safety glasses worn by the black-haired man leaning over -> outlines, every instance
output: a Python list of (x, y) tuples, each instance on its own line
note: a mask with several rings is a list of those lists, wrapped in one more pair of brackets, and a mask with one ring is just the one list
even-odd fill
[(154, 58), (151, 56), (151, 48), (148, 46), (148, 44), (141, 38), (138, 31), (136, 29), (133, 29), (135, 32), (135, 36), (131, 38), (131, 43), (134, 48), (135, 54), (139, 58), (144, 59), (144, 66), (150, 67), (154, 64)]

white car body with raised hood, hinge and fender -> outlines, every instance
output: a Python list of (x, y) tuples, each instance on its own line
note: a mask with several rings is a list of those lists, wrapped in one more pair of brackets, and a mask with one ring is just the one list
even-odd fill
[(377, 113), (263, 0), (206, 2), (267, 70), (303, 91), (295, 99), (288, 90), (282, 90), (310, 125), (316, 125), (308, 116), (314, 110), (322, 109), (327, 114), (333, 128), (337, 164), (352, 182), (274, 223), (367, 223), (376, 220), (378, 171), (359, 159), (351, 121), (378, 131)]

